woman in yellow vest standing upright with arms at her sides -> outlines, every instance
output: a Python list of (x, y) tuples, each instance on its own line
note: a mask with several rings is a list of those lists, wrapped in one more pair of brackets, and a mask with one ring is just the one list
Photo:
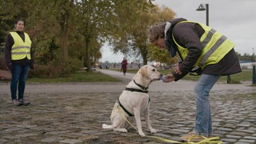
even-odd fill
[[(24, 98), (26, 76), (29, 68), (34, 69), (31, 40), (24, 31), (24, 22), (18, 19), (15, 22), (14, 32), (6, 37), (5, 58), (6, 65), (11, 72), (10, 93), (15, 106), (29, 105)], [(18, 90), (18, 98), (17, 98)]]

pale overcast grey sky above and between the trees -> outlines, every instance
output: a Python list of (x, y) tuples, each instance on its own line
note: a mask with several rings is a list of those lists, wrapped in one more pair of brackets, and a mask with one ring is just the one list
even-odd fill
[[(206, 24), (206, 10), (197, 11), (200, 4), (209, 4), (209, 26), (234, 42), (239, 54), (256, 53), (255, 0), (154, 0), (176, 13), (176, 18)], [(110, 46), (102, 46), (101, 62), (122, 62), (123, 55), (113, 54)], [(128, 58), (129, 61), (129, 58)]]

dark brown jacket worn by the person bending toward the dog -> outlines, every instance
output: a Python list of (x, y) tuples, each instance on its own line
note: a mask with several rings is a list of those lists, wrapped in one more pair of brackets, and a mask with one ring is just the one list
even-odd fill
[[(186, 74), (193, 69), (195, 62), (202, 54), (202, 44), (200, 38), (204, 34), (204, 30), (200, 25), (193, 22), (182, 22), (186, 19), (184, 18), (175, 18), (170, 21), (172, 26), (170, 31), (168, 31), (168, 39), (170, 40), (171, 47), (178, 52), (176, 44), (173, 42), (171, 34), (174, 34), (175, 41), (182, 47), (185, 47), (189, 50), (189, 53), (186, 55), (186, 58), (182, 60), (179, 65), (179, 70), (182, 71), (182, 74), (176, 74), (173, 72), (175, 81), (178, 81), (180, 78), (184, 77)], [(178, 24), (177, 24), (178, 23)], [(211, 75), (228, 75), (236, 74), (241, 72), (241, 66), (238, 62), (237, 54), (234, 49), (230, 50), (222, 60), (216, 64), (205, 66), (202, 70), (202, 74), (211, 74)]]

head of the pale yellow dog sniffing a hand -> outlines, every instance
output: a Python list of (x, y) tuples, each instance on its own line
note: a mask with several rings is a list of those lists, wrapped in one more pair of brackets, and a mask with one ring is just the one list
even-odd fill
[(161, 78), (161, 74), (158, 72), (157, 68), (150, 65), (142, 66), (138, 73), (142, 76), (142, 79), (146, 79), (150, 82), (158, 81)]

